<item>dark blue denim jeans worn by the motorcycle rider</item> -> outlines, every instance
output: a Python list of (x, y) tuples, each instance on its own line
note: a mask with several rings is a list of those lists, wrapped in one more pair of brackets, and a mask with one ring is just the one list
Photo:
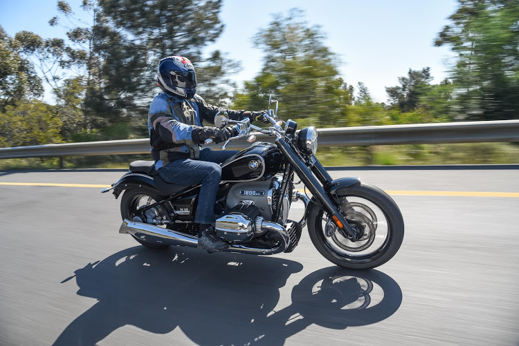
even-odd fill
[(172, 184), (202, 184), (194, 222), (211, 224), (215, 222), (215, 202), (221, 180), (219, 164), (235, 153), (237, 151), (212, 151), (210, 148), (203, 148), (199, 160), (175, 160), (158, 169), (157, 173)]

